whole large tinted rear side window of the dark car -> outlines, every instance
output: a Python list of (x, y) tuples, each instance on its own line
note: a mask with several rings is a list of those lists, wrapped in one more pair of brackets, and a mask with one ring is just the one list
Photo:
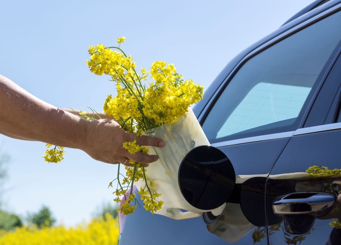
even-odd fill
[(311, 88), (341, 35), (338, 12), (253, 56), (229, 81), (202, 125), (211, 143), (294, 131)]

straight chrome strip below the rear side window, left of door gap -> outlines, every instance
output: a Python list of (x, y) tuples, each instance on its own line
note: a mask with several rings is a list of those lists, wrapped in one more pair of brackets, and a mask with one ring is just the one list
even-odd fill
[(294, 133), (295, 131), (290, 131), (290, 132), (283, 132), (283, 133), (276, 133), (276, 134), (259, 135), (259, 136), (254, 136), (254, 137), (241, 138), (241, 139), (233, 139), (233, 140), (212, 143), (211, 146), (213, 147), (233, 146), (236, 144), (245, 144), (245, 143), (259, 142), (259, 141), (272, 140), (272, 139), (290, 138), (293, 136)]

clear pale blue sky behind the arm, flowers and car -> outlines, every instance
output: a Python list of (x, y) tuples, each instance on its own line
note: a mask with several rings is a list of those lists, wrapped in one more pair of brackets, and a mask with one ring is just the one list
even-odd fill
[[(206, 89), (229, 60), (311, 2), (2, 1), (0, 74), (55, 106), (101, 111), (115, 87), (88, 70), (88, 46), (114, 46), (125, 36), (121, 47), (137, 67), (147, 70), (164, 60)], [(44, 151), (44, 143), (0, 135), (0, 152), (11, 157), (3, 208), (24, 217), (44, 204), (58, 224), (69, 226), (112, 202), (107, 186), (116, 165), (75, 149), (66, 149), (61, 163), (48, 164)]]

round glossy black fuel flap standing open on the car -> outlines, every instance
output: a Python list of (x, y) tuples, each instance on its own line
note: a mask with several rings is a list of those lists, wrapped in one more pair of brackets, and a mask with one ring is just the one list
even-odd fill
[(231, 161), (218, 148), (198, 146), (183, 158), (178, 172), (183, 197), (201, 210), (213, 210), (231, 196), (236, 175)]

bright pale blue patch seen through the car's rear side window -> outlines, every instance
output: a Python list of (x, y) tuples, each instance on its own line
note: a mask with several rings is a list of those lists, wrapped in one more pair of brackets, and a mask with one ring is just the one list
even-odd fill
[(217, 138), (297, 117), (310, 87), (257, 83), (219, 129)]

